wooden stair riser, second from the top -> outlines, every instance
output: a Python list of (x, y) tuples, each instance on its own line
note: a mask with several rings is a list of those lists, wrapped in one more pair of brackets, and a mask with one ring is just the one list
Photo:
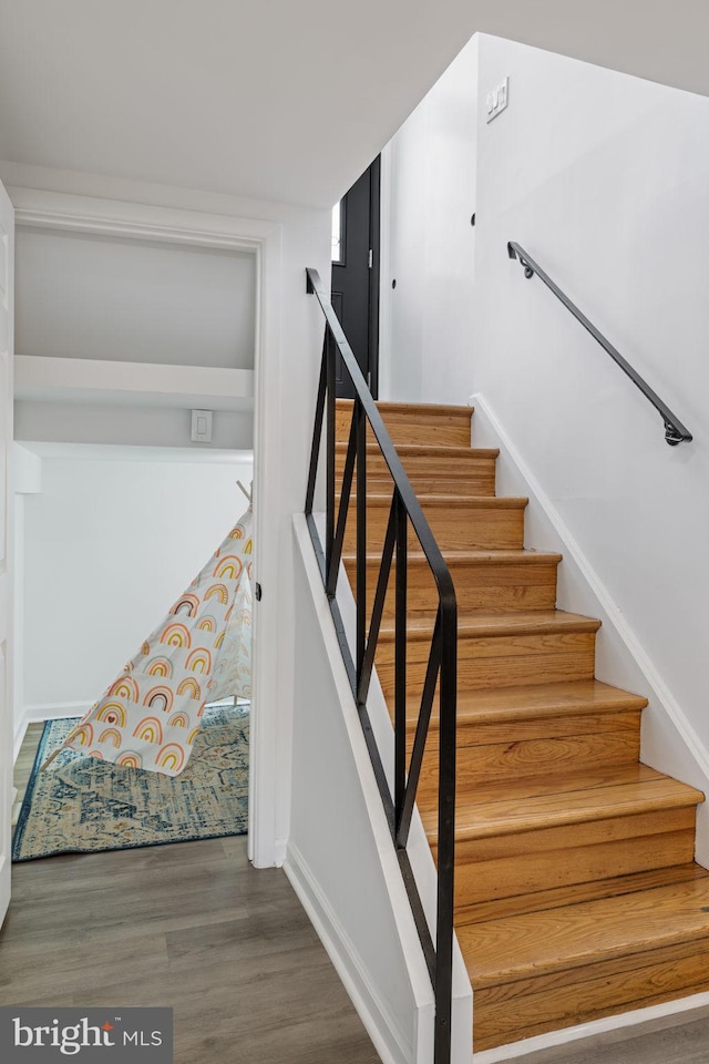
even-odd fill
[[(446, 460), (445, 456), (401, 456), (403, 468), (417, 493), (456, 495), (494, 495), (495, 459), (470, 458)], [(335, 482), (342, 482), (345, 454), (338, 451), (335, 463)], [(353, 481), (357, 478), (354, 471)], [(367, 484), (370, 492), (391, 492), (393, 482), (389, 467), (381, 454), (367, 457)]]

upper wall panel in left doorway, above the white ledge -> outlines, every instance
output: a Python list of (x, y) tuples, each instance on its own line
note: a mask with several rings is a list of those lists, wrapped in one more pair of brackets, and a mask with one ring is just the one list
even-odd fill
[(254, 368), (248, 252), (19, 226), (16, 355)]

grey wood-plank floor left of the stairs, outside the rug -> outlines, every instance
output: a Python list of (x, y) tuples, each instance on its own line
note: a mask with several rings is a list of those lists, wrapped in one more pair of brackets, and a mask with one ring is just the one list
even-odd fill
[(245, 836), (27, 861), (12, 892), (1, 1005), (172, 1006), (175, 1064), (379, 1061), (285, 872), (254, 869)]

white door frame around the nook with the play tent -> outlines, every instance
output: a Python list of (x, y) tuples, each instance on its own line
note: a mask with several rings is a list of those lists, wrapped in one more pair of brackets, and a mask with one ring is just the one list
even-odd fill
[[(250, 252), (256, 256), (256, 345), (254, 352), (254, 572), (259, 583), (275, 587), (278, 579), (278, 512), (280, 471), (274, 431), (279, 423), (281, 364), (281, 250), (282, 225), (230, 215), (100, 200), (68, 193), (11, 187), (16, 225), (68, 229), (103, 236), (171, 244), (191, 244)], [(253, 690), (250, 732), (248, 856), (259, 868), (282, 863), (285, 841), (277, 838), (279, 616), (276, 596), (268, 595), (254, 610)], [(268, 647), (269, 651), (261, 652)], [(11, 727), (11, 726), (10, 726)], [(0, 741), (12, 745), (12, 735)]]

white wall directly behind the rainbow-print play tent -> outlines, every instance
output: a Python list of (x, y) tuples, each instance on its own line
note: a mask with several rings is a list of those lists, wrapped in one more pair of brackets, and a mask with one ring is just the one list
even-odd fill
[(130, 450), (44, 458), (41, 492), (24, 497), (25, 719), (88, 708), (246, 508), (246, 454), (191, 464)]

